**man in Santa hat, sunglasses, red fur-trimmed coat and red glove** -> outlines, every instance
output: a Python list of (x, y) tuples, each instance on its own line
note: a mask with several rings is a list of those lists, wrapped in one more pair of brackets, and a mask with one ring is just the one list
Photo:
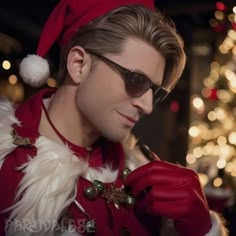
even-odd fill
[[(185, 64), (180, 36), (153, 2), (62, 0), (38, 55), (56, 41), (60, 88), (16, 110), (1, 102), (1, 233), (156, 235), (165, 217), (179, 235), (224, 235), (193, 171), (160, 160), (125, 168), (120, 142)], [(21, 74), (41, 85), (45, 65), (28, 57)]]

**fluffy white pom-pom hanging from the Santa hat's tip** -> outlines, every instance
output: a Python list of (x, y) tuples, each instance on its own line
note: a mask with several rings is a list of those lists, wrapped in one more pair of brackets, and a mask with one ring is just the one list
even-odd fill
[(40, 87), (50, 75), (49, 64), (40, 56), (28, 55), (20, 63), (20, 75), (26, 84)]

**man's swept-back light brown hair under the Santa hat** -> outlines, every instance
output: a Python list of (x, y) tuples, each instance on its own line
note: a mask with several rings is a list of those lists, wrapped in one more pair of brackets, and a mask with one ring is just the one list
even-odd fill
[(160, 11), (151, 11), (142, 5), (117, 8), (79, 28), (62, 48), (58, 81), (63, 81), (67, 75), (66, 60), (72, 47), (79, 45), (99, 54), (119, 54), (127, 38), (132, 37), (148, 43), (165, 58), (162, 86), (171, 90), (185, 66), (183, 40), (173, 21)]

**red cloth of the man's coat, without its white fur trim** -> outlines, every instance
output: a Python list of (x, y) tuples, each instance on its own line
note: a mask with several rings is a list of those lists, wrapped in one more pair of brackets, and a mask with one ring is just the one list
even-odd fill
[[(38, 126), (41, 118), (42, 99), (51, 94), (52, 90), (43, 90), (19, 106), (15, 112), (15, 116), (21, 122), (21, 126), (14, 125), (13, 127), (20, 137), (29, 138), (31, 144), (34, 144), (39, 137)], [(86, 149), (75, 146), (68, 141), (66, 142), (80, 158), (85, 158), (88, 155)], [(0, 186), (2, 189), (0, 194), (0, 211), (13, 204), (17, 186), (23, 177), (22, 171), (16, 170), (16, 167), (27, 162), (28, 155), (31, 157), (37, 155), (37, 149), (34, 145), (19, 145), (5, 157), (0, 170)], [(118, 169), (119, 174), (113, 184), (116, 187), (122, 186), (121, 172), (125, 167), (125, 155), (121, 144), (101, 139), (95, 145), (89, 160), (89, 166), (93, 168), (109, 163), (114, 169)], [(151, 235), (154, 232), (155, 235), (157, 234), (159, 220), (138, 212), (135, 207), (126, 208), (122, 206), (120, 209), (117, 209), (113, 203), (107, 203), (107, 200), (101, 197), (88, 200), (84, 195), (84, 190), (91, 186), (91, 184), (89, 180), (80, 177), (77, 182), (78, 192), (76, 195), (76, 200), (83, 206), (90, 218), (79, 210), (75, 203), (72, 203), (68, 210), (71, 222), (77, 227), (76, 229), (80, 234), (86, 235), (84, 234), (84, 222), (88, 219), (95, 219), (96, 221), (95, 235), (145, 236)], [(4, 219), (7, 217), (8, 214), (1, 214), (1, 236), (4, 235)], [(41, 217), (43, 218), (43, 216)]]

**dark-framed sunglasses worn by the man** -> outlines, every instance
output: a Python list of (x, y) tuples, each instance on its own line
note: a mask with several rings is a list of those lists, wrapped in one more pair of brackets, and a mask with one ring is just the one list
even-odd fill
[(105, 62), (121, 75), (125, 83), (125, 90), (130, 97), (141, 97), (151, 88), (153, 92), (153, 105), (155, 106), (168, 95), (168, 91), (165, 88), (153, 83), (146, 75), (129, 70), (93, 50), (86, 49), (86, 51)]

